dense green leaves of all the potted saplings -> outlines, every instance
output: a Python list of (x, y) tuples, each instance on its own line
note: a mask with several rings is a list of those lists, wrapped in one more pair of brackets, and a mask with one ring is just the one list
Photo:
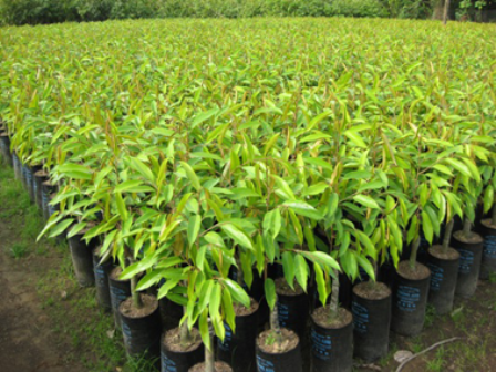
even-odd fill
[(254, 271), (281, 265), (306, 290), (314, 272), (323, 304), (339, 271), (374, 280), (490, 209), (494, 38), (354, 19), (3, 28), (0, 116), (59, 185), (41, 235), (100, 238), (208, 345)]

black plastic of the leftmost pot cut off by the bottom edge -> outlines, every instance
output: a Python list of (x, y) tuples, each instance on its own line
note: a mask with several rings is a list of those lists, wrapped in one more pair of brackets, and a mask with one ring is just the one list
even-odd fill
[[(173, 332), (175, 330), (169, 330)], [(195, 330), (196, 333), (199, 333)], [(167, 347), (165, 339), (161, 342), (161, 372), (187, 372), (193, 365), (202, 363), (205, 351), (204, 344), (198, 342), (189, 351), (174, 351)], [(199, 335), (198, 335), (199, 338)]]

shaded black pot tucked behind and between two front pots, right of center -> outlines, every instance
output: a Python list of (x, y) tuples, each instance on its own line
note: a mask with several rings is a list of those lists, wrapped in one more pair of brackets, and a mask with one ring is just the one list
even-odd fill
[(288, 286), (285, 278), (276, 279), (277, 311), (281, 327), (297, 332), (300, 340), (306, 340), (307, 320), (310, 301), (303, 289), (294, 282), (294, 289)]

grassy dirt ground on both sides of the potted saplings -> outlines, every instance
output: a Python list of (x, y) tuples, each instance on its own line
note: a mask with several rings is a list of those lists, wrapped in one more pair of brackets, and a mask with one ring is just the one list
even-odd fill
[[(126, 361), (113, 321), (97, 310), (94, 289), (79, 288), (68, 248), (35, 242), (41, 221), (10, 170), (0, 169), (0, 371), (152, 371)], [(414, 353), (452, 337), (404, 372), (496, 371), (496, 283), (480, 282), (452, 314), (427, 314), (422, 335), (392, 334), (390, 355), (356, 371), (395, 371), (397, 350)], [(359, 361), (356, 361), (360, 363)]]

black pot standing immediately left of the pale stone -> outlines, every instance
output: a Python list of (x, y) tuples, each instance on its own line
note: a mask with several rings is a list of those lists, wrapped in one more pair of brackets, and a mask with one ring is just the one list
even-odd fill
[(363, 282), (353, 289), (353, 341), (354, 355), (365, 362), (374, 362), (388, 354), (391, 326), (391, 290), (378, 282), (383, 296), (365, 298), (360, 296), (370, 283)]

